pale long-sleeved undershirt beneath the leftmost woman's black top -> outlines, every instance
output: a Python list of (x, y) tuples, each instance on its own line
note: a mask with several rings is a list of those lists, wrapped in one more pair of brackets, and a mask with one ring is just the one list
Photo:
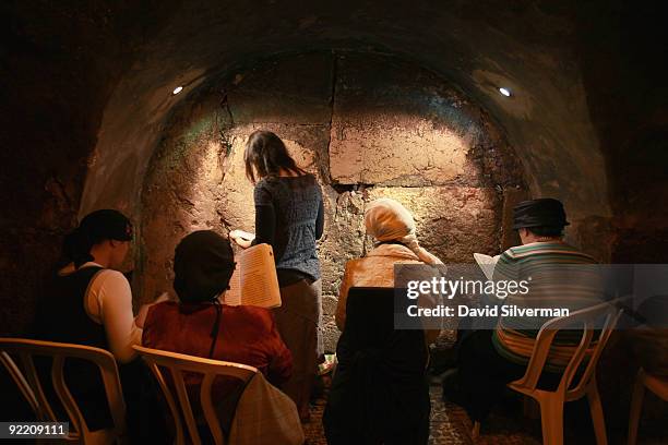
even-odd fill
[[(103, 267), (94, 262), (81, 267), (92, 266)], [(74, 265), (70, 264), (59, 275), (70, 275), (73, 272)], [(112, 269), (97, 273), (88, 285), (84, 309), (91, 320), (105, 327), (109, 349), (116, 360), (126, 363), (136, 357), (132, 345), (141, 345), (142, 329), (134, 323), (132, 291), (123, 274)]]

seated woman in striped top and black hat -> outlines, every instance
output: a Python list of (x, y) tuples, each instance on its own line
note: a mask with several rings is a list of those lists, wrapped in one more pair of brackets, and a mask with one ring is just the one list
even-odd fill
[[(527, 280), (528, 292), (509, 294), (501, 304), (573, 312), (601, 301), (596, 261), (563, 241), (568, 225), (563, 205), (554, 199), (525, 201), (513, 208), (513, 229), (522, 245), (500, 255), (493, 280)], [(505, 385), (526, 372), (536, 335), (548, 320), (501, 315), (496, 328), (469, 333), (460, 345), (457, 371), (443, 380), (443, 398), (466, 408), (472, 420), (484, 420)], [(544, 387), (556, 386), (578, 340), (576, 330), (557, 335)]]

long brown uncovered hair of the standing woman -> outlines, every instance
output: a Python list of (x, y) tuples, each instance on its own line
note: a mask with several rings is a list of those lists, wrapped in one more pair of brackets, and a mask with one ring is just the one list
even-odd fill
[(282, 168), (297, 175), (306, 173), (297, 167), (281, 137), (265, 130), (254, 131), (248, 136), (243, 161), (246, 163), (246, 177), (252, 183), (264, 177), (278, 176)]

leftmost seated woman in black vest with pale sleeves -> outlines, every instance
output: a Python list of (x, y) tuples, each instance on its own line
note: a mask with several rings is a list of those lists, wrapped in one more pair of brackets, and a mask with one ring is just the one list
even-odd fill
[[(160, 443), (165, 440), (164, 419), (159, 412), (145, 409), (155, 407), (156, 392), (147, 369), (132, 348), (141, 341), (142, 316), (134, 317), (130, 284), (119, 272), (131, 241), (132, 224), (120, 212), (102, 209), (84, 217), (65, 237), (63, 255), (70, 263), (58, 272), (49, 293), (38, 301), (34, 335), (43, 340), (109, 350), (119, 364), (130, 437)], [(40, 371), (45, 375), (43, 383), (50, 382), (50, 365), (43, 363)], [(68, 360), (65, 383), (91, 431), (111, 424), (95, 365)]]

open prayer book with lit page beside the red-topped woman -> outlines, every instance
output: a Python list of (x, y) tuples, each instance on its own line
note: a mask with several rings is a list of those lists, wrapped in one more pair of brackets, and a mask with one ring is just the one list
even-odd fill
[(237, 268), (225, 292), (225, 304), (278, 308), (281, 291), (270, 244), (258, 244), (238, 254)]

